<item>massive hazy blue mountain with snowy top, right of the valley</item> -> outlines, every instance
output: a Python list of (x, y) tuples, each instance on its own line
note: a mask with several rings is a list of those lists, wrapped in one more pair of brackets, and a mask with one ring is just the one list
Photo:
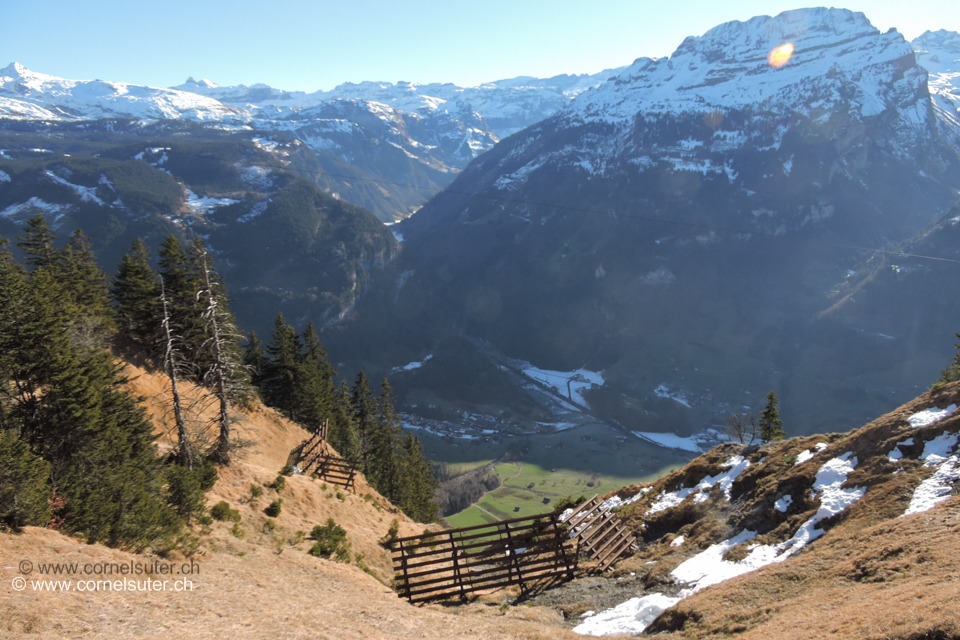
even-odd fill
[(896, 249), (957, 201), (944, 100), (910, 43), (863, 14), (720, 25), (474, 160), (399, 225), (406, 277), (361, 303), (355, 331), (429, 349), (424, 327), (452, 328), (602, 370), (591, 405), (630, 426), (722, 423), (771, 389), (798, 430), (856, 424), (952, 353), (956, 296), (856, 320), (836, 306), (874, 287), (855, 247)]

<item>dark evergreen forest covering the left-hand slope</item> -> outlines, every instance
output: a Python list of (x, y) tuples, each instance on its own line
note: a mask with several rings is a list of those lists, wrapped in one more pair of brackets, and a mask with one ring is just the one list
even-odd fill
[[(175, 547), (208, 518), (204, 492), (229, 465), (233, 408), (257, 398), (316, 431), (410, 517), (437, 518), (436, 481), (420, 442), (401, 432), (392, 390), (361, 371), (337, 382), (316, 330), (278, 315), (270, 344), (245, 338), (203, 241), (137, 239), (113, 278), (80, 230), (65, 245), (42, 215), (13, 247), (0, 238), (0, 528), (48, 526), (88, 542)], [(62, 246), (62, 248), (59, 248)], [(243, 344), (246, 343), (246, 344)], [(158, 455), (154, 426), (126, 387), (121, 355), (169, 380), (176, 447)], [(213, 424), (190, 428), (178, 383), (200, 385)]]

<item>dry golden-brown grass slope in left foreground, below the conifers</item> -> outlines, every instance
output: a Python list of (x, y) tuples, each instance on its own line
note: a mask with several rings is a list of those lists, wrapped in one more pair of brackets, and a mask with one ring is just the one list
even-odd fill
[[(169, 447), (166, 388), (162, 376), (131, 365), (133, 390), (144, 396), (154, 417), (161, 447)], [(196, 390), (188, 395), (196, 394)], [(129, 563), (161, 560), (180, 565), (174, 554), (158, 558), (131, 554), (60, 533), (28, 528), (21, 534), (0, 534), (0, 637), (2, 638), (569, 638), (554, 626), (552, 609), (509, 607), (497, 598), (466, 607), (413, 607), (386, 583), (392, 577), (389, 554), (377, 544), (394, 518), (401, 535), (424, 526), (397, 513), (363, 479), (356, 493), (336, 495), (336, 488), (303, 476), (287, 478), (279, 494), (283, 509), (276, 530), (267, 531), (263, 509), (278, 497), (264, 488), (257, 500), (250, 485), (270, 484), (287, 463), (290, 451), (307, 438), (297, 425), (257, 406), (240, 411), (237, 435), (248, 444), (237, 460), (220, 469), (208, 503), (226, 500), (241, 513), (243, 538), (232, 523), (214, 522), (200, 536), (190, 561), (199, 572), (187, 576), (185, 592), (78, 592), (33, 589), (35, 569), (23, 591), (13, 588), (19, 562)], [(369, 495), (369, 498), (364, 498)], [(296, 542), (297, 531), (309, 533), (332, 517), (347, 530), (354, 553), (363, 554), (369, 574), (355, 564), (340, 564), (307, 554), (309, 541)], [(63, 577), (63, 576), (60, 576)], [(58, 578), (60, 578), (58, 577)], [(97, 576), (79, 576), (87, 580)], [(73, 578), (74, 581), (77, 578)]]

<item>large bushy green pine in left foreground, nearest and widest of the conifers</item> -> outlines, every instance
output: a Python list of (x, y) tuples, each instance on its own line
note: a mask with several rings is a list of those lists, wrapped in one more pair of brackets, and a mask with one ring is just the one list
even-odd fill
[(93, 542), (139, 547), (178, 525), (161, 497), (150, 422), (123, 389), (112, 356), (69, 339), (57, 274), (30, 274), (22, 302), (23, 341), (10, 354), (21, 393), (12, 418), (21, 439), (50, 464), (66, 499), (64, 526)]

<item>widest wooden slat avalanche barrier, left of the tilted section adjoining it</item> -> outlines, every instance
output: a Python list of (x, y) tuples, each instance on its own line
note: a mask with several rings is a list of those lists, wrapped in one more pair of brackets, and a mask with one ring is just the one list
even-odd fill
[(411, 603), (572, 579), (577, 553), (559, 513), (447, 529), (390, 541), (395, 583)]

